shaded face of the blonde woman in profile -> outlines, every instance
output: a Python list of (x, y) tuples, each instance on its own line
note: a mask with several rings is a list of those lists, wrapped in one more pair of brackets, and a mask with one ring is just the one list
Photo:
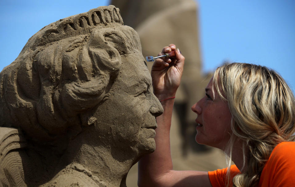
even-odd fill
[(192, 106), (193, 112), (197, 113), (196, 141), (219, 149), (225, 148), (230, 134), (231, 113), (227, 101), (221, 99), (214, 88), (212, 80), (205, 88), (205, 96)]

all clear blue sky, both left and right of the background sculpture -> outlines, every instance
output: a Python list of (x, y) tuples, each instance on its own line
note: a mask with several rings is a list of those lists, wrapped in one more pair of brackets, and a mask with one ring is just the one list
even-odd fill
[[(203, 70), (225, 60), (277, 70), (295, 89), (295, 1), (198, 0)], [(57, 6), (58, 5), (58, 6)], [(42, 27), (108, 0), (0, 2), (0, 70), (17, 58)]]

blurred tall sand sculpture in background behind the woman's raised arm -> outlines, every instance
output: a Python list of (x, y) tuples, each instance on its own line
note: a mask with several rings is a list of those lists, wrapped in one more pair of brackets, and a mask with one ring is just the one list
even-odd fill
[[(185, 67), (177, 90), (172, 117), (171, 154), (176, 170), (209, 171), (225, 167), (225, 156), (219, 149), (197, 146), (196, 114), (190, 107), (204, 96), (211, 74), (201, 72), (198, 6), (194, 0), (112, 0), (120, 9), (124, 24), (139, 34), (144, 56), (157, 56), (170, 43), (185, 56)], [(147, 62), (149, 69), (153, 62)], [(205, 151), (204, 151), (205, 150)], [(203, 151), (203, 152), (202, 152)], [(127, 176), (127, 185), (137, 186), (137, 166)]]

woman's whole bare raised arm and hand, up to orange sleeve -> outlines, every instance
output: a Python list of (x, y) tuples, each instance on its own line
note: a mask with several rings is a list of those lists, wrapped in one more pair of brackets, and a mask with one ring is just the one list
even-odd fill
[[(170, 44), (162, 53), (169, 53), (176, 47)], [(180, 84), (184, 57), (175, 50), (176, 58), (157, 58), (152, 66), (154, 94), (161, 101), (174, 97)], [(138, 163), (138, 186), (210, 186), (208, 172), (173, 170), (170, 150), (170, 126), (173, 110), (173, 99), (161, 102), (164, 112), (157, 117), (158, 127), (155, 129), (157, 149), (147, 154)]]

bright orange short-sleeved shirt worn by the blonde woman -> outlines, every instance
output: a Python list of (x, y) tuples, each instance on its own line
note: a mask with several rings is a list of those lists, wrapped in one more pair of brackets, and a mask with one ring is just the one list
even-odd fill
[[(261, 172), (258, 187), (294, 187), (295, 186), (295, 142), (282, 142), (270, 154), (269, 160)], [(225, 187), (227, 168), (209, 171), (213, 187)], [(236, 165), (230, 166), (230, 186), (235, 175), (240, 173)]]

